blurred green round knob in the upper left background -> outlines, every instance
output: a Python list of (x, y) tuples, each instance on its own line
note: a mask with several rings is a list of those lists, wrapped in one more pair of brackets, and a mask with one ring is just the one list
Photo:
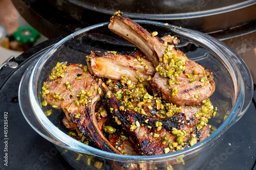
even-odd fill
[(23, 44), (34, 44), (40, 37), (40, 34), (31, 26), (19, 27), (17, 31), (13, 33), (16, 41), (22, 42)]

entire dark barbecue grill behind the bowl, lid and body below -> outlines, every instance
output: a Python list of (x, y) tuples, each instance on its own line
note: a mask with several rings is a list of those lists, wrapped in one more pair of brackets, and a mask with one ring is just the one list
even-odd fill
[(133, 19), (167, 22), (210, 34), (239, 54), (256, 47), (256, 0), (187, 0), (175, 1), (175, 5), (166, 0), (12, 2), (28, 23), (48, 38), (67, 36), (77, 28), (109, 21), (116, 10), (121, 10)]

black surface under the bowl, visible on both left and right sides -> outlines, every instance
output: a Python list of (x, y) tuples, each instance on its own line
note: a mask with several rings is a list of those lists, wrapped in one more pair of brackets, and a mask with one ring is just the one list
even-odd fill
[[(73, 169), (57, 152), (54, 145), (38, 135), (23, 117), (18, 105), (18, 85), (25, 70), (34, 59), (59, 41), (57, 37), (41, 43), (20, 55), (15, 70), (5, 67), (0, 72), (0, 135), (1, 169)], [(256, 162), (256, 91), (245, 115), (227, 130), (219, 148), (202, 169), (253, 169)], [(4, 115), (8, 113), (8, 133), (4, 133)], [(7, 145), (6, 142), (7, 141)], [(4, 151), (5, 148), (8, 151)], [(8, 154), (8, 166), (5, 154)]]

